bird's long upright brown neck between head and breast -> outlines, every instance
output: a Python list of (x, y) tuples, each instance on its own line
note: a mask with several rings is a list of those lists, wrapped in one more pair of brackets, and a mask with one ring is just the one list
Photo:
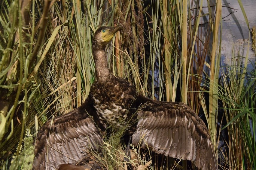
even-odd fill
[(104, 81), (108, 80), (111, 76), (110, 70), (108, 68), (108, 61), (105, 49), (93, 45), (93, 59), (95, 62), (95, 73), (96, 79)]

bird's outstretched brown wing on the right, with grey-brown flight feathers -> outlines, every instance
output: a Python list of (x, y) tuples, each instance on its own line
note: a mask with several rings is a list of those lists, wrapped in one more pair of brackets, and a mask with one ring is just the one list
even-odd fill
[(213, 145), (203, 120), (181, 102), (160, 102), (138, 96), (139, 122), (133, 144), (183, 160), (198, 168), (217, 170)]

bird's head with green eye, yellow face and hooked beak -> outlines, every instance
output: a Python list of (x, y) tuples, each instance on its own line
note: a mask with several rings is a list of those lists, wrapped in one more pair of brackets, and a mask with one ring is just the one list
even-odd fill
[(123, 28), (122, 25), (117, 25), (116, 27), (99, 27), (94, 33), (93, 44), (105, 49), (114, 34), (121, 28)]

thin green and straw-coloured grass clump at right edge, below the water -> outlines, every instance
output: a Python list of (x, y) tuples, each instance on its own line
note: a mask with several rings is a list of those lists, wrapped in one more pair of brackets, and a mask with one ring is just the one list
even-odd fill
[[(222, 86), (220, 87), (220, 99), (223, 103), (224, 119), (228, 122), (227, 146), (225, 160), (226, 167), (230, 169), (254, 169), (255, 168), (255, 68), (242, 76), (242, 59), (239, 53), (233, 53), (231, 66), (224, 66), (221, 72)], [(237, 57), (235, 57), (237, 56)], [(245, 82), (239, 94), (240, 82)], [(223, 128), (223, 129), (224, 129)]]

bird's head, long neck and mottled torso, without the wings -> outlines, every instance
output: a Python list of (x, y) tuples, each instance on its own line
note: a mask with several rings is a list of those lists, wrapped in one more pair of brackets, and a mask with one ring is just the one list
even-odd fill
[[(112, 125), (114, 128), (118, 128), (120, 127), (120, 122), (131, 116), (129, 108), (136, 95), (136, 89), (123, 78), (111, 74), (108, 69), (105, 53), (107, 43), (102, 43), (102, 41), (105, 41), (103, 38), (105, 33), (102, 30), (108, 30), (109, 28), (111, 27), (101, 27), (95, 32), (96, 36), (93, 38), (92, 51), (96, 67), (96, 80), (91, 87), (91, 92), (93, 105), (102, 126), (106, 128), (108, 125)], [(116, 32), (120, 28), (111, 29)]]

